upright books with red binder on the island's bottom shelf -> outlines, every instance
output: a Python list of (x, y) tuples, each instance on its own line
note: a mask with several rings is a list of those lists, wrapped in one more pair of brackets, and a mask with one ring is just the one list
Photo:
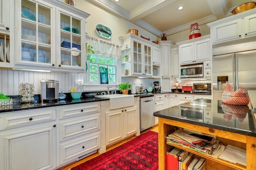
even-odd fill
[(193, 153), (174, 148), (166, 152), (166, 170), (206, 170), (206, 160)]

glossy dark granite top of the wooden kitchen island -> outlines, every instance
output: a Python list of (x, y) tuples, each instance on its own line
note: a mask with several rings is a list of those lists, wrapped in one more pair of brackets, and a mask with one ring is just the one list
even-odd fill
[[(198, 112), (202, 110), (203, 114)], [(234, 106), (221, 100), (197, 99), (156, 111), (154, 116), (256, 137), (256, 118), (250, 104)]]

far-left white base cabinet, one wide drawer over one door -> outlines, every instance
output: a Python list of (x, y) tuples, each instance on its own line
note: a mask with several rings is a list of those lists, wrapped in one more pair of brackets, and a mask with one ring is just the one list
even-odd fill
[(0, 122), (0, 169), (55, 169), (55, 109), (2, 113)]

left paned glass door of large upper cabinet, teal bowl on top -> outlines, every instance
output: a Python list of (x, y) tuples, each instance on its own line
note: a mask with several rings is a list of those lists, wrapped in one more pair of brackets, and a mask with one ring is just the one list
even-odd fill
[(49, 65), (51, 59), (51, 8), (21, 1), (21, 61)]

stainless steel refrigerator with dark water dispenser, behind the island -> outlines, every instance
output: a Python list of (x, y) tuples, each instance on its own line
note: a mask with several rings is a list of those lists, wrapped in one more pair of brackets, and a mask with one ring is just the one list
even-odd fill
[(231, 84), (234, 91), (242, 88), (246, 94), (248, 90), (256, 90), (256, 48), (213, 55), (212, 70), (213, 99), (221, 100), (225, 83)]

